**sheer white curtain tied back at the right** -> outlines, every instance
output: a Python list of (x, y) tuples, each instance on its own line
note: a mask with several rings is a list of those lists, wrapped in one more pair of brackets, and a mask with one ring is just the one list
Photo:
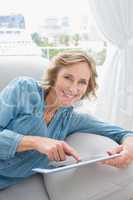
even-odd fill
[(95, 115), (133, 129), (133, 0), (88, 0), (108, 49)]

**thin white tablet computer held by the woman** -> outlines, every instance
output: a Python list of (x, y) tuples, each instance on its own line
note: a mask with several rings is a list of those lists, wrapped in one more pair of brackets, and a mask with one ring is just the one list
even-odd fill
[(114, 154), (114, 155), (93, 155), (89, 158), (82, 158), (81, 161), (77, 162), (76, 160), (65, 160), (65, 161), (50, 161), (49, 162), (49, 168), (34, 168), (32, 169), (35, 172), (38, 173), (54, 173), (54, 172), (60, 172), (63, 170), (68, 170), (72, 168), (77, 168), (80, 166), (88, 165), (91, 163), (96, 163), (99, 161), (109, 160), (112, 158), (116, 158), (121, 156), (121, 153)]

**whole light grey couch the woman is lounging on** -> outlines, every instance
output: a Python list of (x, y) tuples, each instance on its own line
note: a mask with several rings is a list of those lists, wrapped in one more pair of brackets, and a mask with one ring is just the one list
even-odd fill
[[(1, 56), (0, 89), (17, 76), (40, 79), (46, 62), (41, 57)], [(76, 133), (67, 138), (82, 155), (103, 153), (117, 145), (109, 138)], [(0, 200), (131, 200), (133, 165), (126, 169), (91, 164), (49, 175), (36, 174), (0, 191)]]

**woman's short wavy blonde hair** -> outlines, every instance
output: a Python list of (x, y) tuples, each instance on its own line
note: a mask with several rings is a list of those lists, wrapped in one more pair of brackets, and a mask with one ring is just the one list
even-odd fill
[(48, 65), (47, 73), (44, 73), (42, 77), (42, 87), (50, 88), (54, 86), (60, 69), (80, 62), (87, 63), (91, 73), (87, 90), (82, 99), (85, 97), (90, 98), (90, 96), (96, 97), (96, 89), (98, 87), (96, 83), (96, 65), (94, 60), (84, 51), (64, 51), (53, 57)]

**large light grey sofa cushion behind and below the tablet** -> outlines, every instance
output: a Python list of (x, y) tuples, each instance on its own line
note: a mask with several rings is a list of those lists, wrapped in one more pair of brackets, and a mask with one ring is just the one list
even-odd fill
[[(105, 153), (116, 146), (111, 139), (94, 134), (77, 133), (69, 136), (67, 142), (81, 156)], [(44, 181), (51, 200), (102, 199), (105, 195), (119, 191), (133, 182), (133, 166), (117, 169), (100, 163), (93, 163), (67, 171), (44, 174)]]

